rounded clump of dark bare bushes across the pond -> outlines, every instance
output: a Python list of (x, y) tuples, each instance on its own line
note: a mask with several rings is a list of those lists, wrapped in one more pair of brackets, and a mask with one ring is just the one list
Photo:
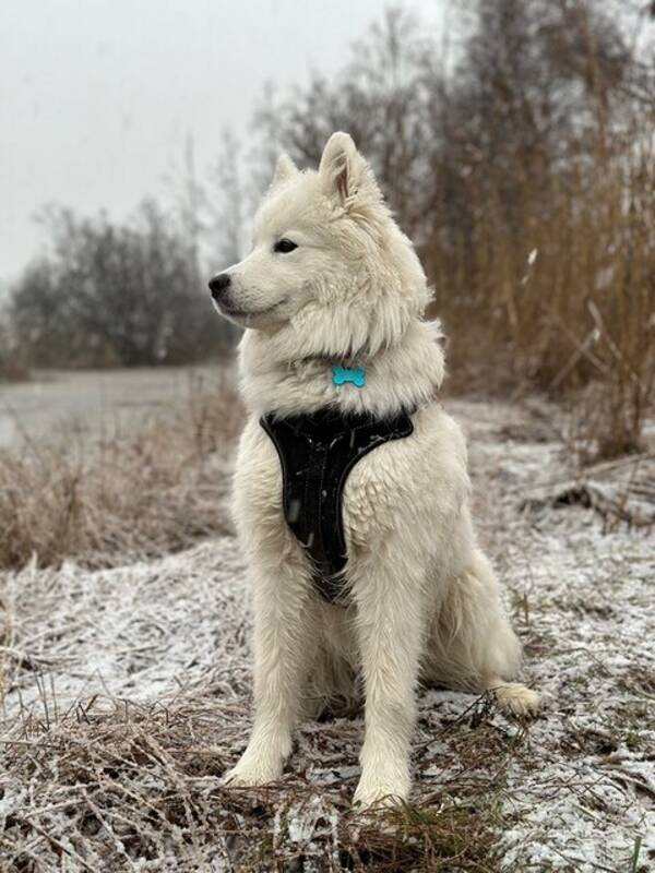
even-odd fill
[(11, 301), (33, 363), (180, 363), (216, 350), (194, 252), (156, 203), (128, 225), (67, 210), (51, 210), (48, 225), (51, 252), (27, 267)]

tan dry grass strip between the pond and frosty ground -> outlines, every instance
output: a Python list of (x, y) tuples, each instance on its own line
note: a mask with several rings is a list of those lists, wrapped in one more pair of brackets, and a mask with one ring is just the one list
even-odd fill
[(224, 531), (225, 458), (240, 422), (231, 388), (196, 383), (170, 421), (86, 446), (82, 457), (26, 438), (0, 454), (0, 569), (33, 558), (108, 566)]

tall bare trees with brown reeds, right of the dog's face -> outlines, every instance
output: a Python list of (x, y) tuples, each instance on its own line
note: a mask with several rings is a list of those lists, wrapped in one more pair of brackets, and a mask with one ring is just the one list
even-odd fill
[(455, 381), (585, 408), (639, 447), (655, 394), (655, 5), (469, 0), (445, 34), (391, 8), (335, 76), (273, 92), (261, 154), (370, 158), (436, 290)]

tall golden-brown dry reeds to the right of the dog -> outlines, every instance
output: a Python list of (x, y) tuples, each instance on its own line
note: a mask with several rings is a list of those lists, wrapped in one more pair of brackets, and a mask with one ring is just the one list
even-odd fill
[(644, 118), (626, 148), (606, 143), (592, 167), (551, 170), (539, 183), (516, 155), (514, 176), (524, 182), (511, 208), (495, 193), (498, 168), (477, 167), (474, 227), (448, 247), (438, 229), (424, 252), (457, 385), (572, 399), (590, 435), (588, 462), (643, 450), (655, 400), (648, 124)]

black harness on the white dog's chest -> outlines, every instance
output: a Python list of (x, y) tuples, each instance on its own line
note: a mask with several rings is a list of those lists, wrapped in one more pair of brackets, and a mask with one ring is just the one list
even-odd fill
[(313, 582), (330, 603), (343, 600), (348, 561), (342, 517), (348, 474), (366, 454), (414, 431), (406, 412), (389, 418), (320, 409), (301, 416), (264, 416), (283, 477), (284, 517), (307, 550)]

